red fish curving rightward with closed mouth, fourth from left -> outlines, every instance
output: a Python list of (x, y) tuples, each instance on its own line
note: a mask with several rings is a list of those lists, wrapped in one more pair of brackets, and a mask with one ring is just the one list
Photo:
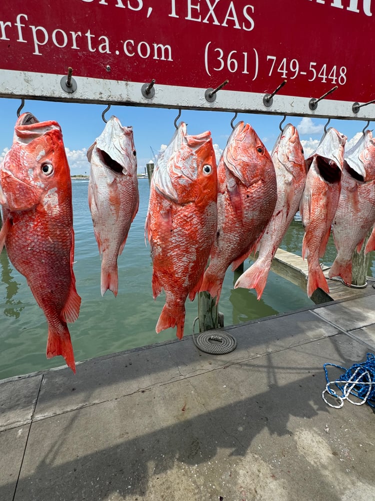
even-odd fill
[(216, 297), (216, 304), (227, 268), (232, 263), (235, 270), (251, 254), (277, 199), (271, 157), (249, 124), (239, 122), (233, 129), (217, 177), (217, 232), (200, 288)]

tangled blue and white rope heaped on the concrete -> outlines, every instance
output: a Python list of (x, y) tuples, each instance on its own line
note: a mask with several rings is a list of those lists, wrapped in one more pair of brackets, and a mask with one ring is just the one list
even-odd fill
[[(329, 381), (327, 366), (336, 367), (344, 372), (335, 381)], [(362, 405), (367, 402), (371, 408), (375, 408), (375, 355), (367, 353), (364, 362), (353, 364), (349, 369), (330, 363), (324, 364), (323, 369), (327, 384), (321, 396), (326, 404), (334, 409), (340, 409), (343, 406), (344, 400), (347, 400), (354, 405)], [(331, 388), (333, 384), (339, 390), (340, 394)], [(327, 402), (325, 393), (329, 393), (332, 397), (336, 398), (339, 404), (332, 405)], [(349, 399), (349, 395), (354, 395), (359, 401), (353, 402)]]

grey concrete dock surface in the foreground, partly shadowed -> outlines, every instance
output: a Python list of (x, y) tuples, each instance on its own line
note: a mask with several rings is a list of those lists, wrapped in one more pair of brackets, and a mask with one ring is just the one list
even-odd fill
[(321, 397), (323, 363), (375, 352), (361, 294), (227, 327), (227, 355), (186, 335), (1, 381), (1, 501), (374, 500), (371, 408)]

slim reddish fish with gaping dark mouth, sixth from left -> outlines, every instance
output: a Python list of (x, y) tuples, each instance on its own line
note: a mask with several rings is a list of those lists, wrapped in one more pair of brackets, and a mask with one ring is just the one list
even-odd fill
[(330, 127), (314, 153), (306, 160), (308, 172), (299, 212), (304, 236), (302, 258), (307, 258), (307, 296), (319, 287), (327, 294), (327, 281), (320, 268), (341, 190), (346, 136)]

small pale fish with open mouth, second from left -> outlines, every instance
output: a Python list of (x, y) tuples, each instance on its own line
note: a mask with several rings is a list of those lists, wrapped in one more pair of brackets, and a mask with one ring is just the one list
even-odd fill
[(101, 257), (100, 291), (117, 296), (117, 259), (139, 206), (132, 127), (112, 116), (87, 151), (91, 164), (88, 205)]

